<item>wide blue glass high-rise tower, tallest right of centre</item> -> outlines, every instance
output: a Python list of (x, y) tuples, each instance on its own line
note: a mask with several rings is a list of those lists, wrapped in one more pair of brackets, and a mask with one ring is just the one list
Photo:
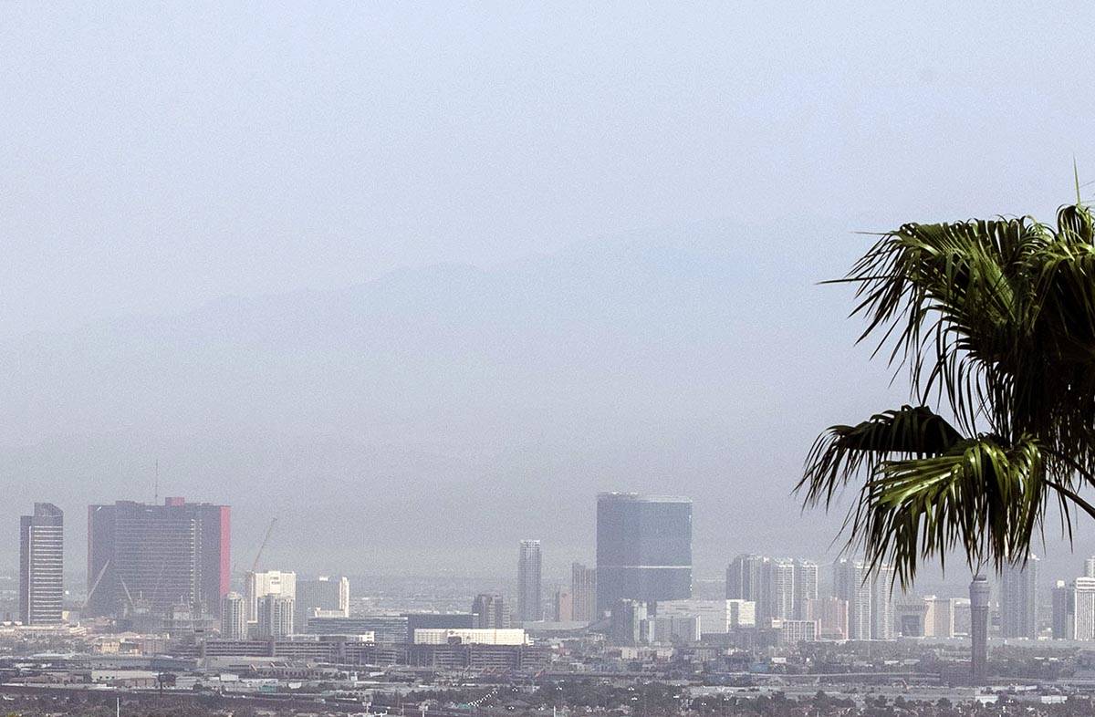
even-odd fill
[(597, 496), (597, 609), (692, 597), (692, 500)]

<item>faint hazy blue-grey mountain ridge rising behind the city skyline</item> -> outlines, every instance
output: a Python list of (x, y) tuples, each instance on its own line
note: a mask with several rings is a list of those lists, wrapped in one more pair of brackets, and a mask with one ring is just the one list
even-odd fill
[(237, 551), (277, 513), (272, 556), (347, 570), (505, 560), (530, 535), (589, 559), (593, 494), (671, 489), (702, 555), (758, 520), (717, 517), (744, 492), (793, 506), (825, 421), (811, 367), (849, 343), (809, 331), (841, 297), (779, 274), (840, 257), (703, 231), (0, 342), (0, 476), (71, 511), (147, 497), (159, 460), (164, 493), (234, 506)]

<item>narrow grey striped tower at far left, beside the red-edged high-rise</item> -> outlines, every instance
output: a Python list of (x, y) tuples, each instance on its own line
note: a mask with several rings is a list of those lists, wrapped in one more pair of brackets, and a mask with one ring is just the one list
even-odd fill
[(61, 622), (65, 598), (65, 513), (34, 504), (19, 519), (19, 618), (24, 625)]

